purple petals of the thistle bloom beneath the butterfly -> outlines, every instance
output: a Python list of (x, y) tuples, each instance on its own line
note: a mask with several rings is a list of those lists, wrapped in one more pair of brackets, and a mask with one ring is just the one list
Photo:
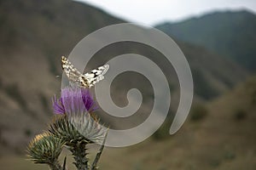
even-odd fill
[(85, 111), (95, 111), (95, 102), (86, 88), (63, 88), (61, 98), (53, 98), (55, 114), (79, 114)]

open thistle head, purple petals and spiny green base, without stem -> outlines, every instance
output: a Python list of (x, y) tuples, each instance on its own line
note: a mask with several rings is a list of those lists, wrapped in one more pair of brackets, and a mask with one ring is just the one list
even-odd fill
[[(51, 133), (61, 134), (66, 136), (65, 138), (67, 139), (81, 135), (85, 139), (102, 144), (108, 128), (102, 126), (96, 117), (90, 114), (90, 111), (95, 111), (96, 107), (88, 89), (63, 88), (61, 90), (61, 98), (53, 98), (53, 109), (55, 114), (65, 116), (55, 123)], [(65, 122), (65, 117), (67, 122)], [(79, 139), (81, 138), (79, 137)]]

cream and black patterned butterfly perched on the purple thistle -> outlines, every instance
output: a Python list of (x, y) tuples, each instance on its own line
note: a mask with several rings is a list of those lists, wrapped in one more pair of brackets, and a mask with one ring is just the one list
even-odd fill
[(81, 74), (64, 56), (61, 57), (62, 70), (66, 73), (69, 82), (75, 83), (79, 88), (91, 88), (100, 82), (108, 71), (109, 65), (102, 65), (90, 73)]

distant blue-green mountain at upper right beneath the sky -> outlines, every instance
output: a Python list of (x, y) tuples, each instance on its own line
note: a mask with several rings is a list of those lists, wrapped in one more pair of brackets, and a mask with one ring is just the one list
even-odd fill
[(247, 10), (214, 12), (155, 26), (177, 40), (207, 48), (256, 71), (256, 15)]

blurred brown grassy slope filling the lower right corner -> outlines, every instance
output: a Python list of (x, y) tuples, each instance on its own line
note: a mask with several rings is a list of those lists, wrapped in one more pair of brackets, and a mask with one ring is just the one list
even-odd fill
[(148, 139), (125, 149), (107, 149), (102, 169), (219, 169), (256, 167), (256, 77), (207, 105), (174, 136)]

